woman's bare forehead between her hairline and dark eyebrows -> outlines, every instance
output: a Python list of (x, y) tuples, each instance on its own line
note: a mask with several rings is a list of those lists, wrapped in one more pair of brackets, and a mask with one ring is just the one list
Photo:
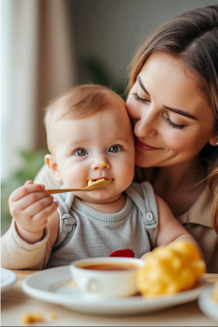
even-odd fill
[(200, 92), (197, 76), (183, 62), (166, 53), (155, 52), (149, 56), (137, 77), (136, 87), (161, 106), (191, 111), (204, 108), (202, 114), (210, 110)]

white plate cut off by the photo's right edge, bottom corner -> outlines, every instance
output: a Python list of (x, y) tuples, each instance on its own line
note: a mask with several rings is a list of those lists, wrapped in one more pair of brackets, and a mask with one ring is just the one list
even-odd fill
[(205, 288), (198, 298), (198, 305), (203, 313), (218, 322), (218, 303), (212, 299), (214, 290), (215, 285)]

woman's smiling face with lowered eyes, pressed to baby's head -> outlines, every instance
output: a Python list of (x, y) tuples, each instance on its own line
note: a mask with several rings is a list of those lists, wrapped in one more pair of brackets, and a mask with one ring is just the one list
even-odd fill
[(140, 167), (188, 162), (208, 141), (216, 145), (214, 114), (199, 92), (196, 76), (165, 53), (148, 57), (129, 93), (127, 110)]

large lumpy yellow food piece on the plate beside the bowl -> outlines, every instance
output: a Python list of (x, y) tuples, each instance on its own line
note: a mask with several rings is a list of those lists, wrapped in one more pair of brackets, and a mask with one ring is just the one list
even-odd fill
[(198, 249), (183, 240), (160, 246), (147, 253), (137, 275), (143, 296), (171, 295), (191, 289), (205, 272)]

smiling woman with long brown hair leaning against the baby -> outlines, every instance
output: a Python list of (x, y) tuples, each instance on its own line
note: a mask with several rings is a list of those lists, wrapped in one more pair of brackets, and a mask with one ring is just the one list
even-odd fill
[[(160, 26), (137, 51), (129, 87), (136, 180), (151, 181), (199, 242), (207, 272), (218, 273), (218, 5)], [(58, 187), (48, 174), (35, 182)]]

